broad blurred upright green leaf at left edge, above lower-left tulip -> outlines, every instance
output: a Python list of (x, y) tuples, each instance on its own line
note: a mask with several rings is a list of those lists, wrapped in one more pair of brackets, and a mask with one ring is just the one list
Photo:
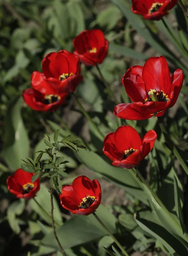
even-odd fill
[(22, 97), (12, 101), (6, 113), (2, 157), (12, 170), (20, 168), (21, 159), (29, 156), (29, 138), (20, 112), (22, 103)]

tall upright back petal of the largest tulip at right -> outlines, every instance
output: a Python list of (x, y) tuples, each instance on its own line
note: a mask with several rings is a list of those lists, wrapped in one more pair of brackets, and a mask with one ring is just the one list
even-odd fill
[(143, 67), (142, 78), (148, 92), (150, 89), (156, 89), (158, 93), (162, 90), (169, 95), (171, 91), (171, 76), (165, 57), (149, 58)]

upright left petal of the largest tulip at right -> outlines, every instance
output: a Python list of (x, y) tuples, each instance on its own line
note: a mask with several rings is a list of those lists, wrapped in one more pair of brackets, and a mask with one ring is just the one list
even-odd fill
[(142, 79), (142, 70), (141, 66), (130, 67), (121, 80), (127, 95), (133, 102), (145, 102), (148, 98)]

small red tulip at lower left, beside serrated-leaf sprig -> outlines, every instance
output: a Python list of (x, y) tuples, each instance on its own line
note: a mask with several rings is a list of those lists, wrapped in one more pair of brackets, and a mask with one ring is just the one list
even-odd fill
[(16, 195), (17, 198), (31, 199), (40, 189), (39, 178), (31, 183), (33, 174), (24, 172), (22, 169), (17, 169), (13, 175), (9, 176), (6, 180), (9, 191)]

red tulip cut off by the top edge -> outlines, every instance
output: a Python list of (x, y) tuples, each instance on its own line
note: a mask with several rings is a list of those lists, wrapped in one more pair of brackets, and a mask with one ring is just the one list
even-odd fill
[(132, 0), (131, 9), (145, 20), (160, 20), (176, 3), (177, 0)]

